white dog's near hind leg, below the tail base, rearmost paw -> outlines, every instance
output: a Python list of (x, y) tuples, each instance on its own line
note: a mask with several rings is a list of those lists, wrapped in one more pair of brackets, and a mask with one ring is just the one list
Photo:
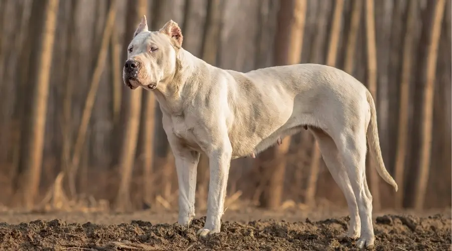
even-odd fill
[[(355, 193), (358, 212), (361, 219), (361, 237), (356, 242), (358, 248), (374, 244), (375, 235), (372, 226), (372, 195), (366, 181), (366, 133), (364, 126), (345, 130), (334, 139), (344, 160), (350, 184)], [(366, 189), (367, 188), (367, 189)]]

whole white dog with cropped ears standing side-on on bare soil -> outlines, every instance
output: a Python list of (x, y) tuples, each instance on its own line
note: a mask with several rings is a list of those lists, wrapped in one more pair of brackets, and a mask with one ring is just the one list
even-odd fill
[(348, 236), (359, 238), (360, 248), (373, 245), (366, 137), (378, 173), (396, 191), (397, 184), (383, 163), (375, 105), (366, 87), (342, 70), (319, 64), (247, 73), (220, 69), (185, 51), (182, 40), (172, 20), (150, 32), (143, 17), (123, 70), (127, 86), (152, 90), (160, 103), (176, 161), (178, 223), (188, 226), (195, 215), (200, 152), (209, 157), (210, 168), (206, 221), (197, 232), (205, 237), (220, 231), (231, 159), (254, 156), (307, 126), (347, 199)]

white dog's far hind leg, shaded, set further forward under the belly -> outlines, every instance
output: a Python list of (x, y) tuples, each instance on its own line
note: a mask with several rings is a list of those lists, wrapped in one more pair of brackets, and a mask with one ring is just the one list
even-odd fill
[(356, 203), (355, 193), (350, 184), (349, 176), (344, 167), (343, 160), (337, 151), (334, 141), (322, 130), (311, 128), (310, 131), (314, 135), (318, 143), (323, 161), (326, 164), (331, 176), (344, 194), (350, 212), (350, 225), (347, 236), (356, 239), (361, 234), (360, 215), (358, 213), (358, 205)]

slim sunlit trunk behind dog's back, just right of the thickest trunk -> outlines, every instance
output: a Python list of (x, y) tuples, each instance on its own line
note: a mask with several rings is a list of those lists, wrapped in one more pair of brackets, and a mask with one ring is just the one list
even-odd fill
[[(342, 11), (344, 9), (344, 0), (337, 0), (334, 6), (334, 14), (332, 19), (332, 26), (330, 32), (328, 55), (326, 56), (326, 64), (335, 66), (337, 57), (337, 48), (339, 45), (339, 38), (341, 36), (341, 22)], [(306, 204), (312, 205), (314, 203), (315, 192), (317, 190), (318, 170), (320, 165), (320, 150), (317, 142), (315, 142), (311, 154), (311, 163), (309, 166), (309, 178), (306, 188)]]

